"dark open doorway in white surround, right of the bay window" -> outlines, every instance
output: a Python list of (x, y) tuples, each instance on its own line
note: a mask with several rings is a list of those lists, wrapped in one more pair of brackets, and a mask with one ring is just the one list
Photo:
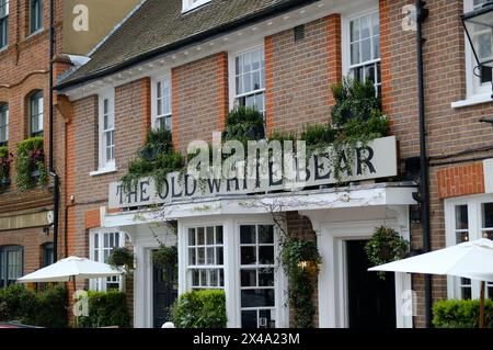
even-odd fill
[(347, 294), (351, 328), (395, 328), (394, 274), (368, 272), (366, 240), (346, 241)]

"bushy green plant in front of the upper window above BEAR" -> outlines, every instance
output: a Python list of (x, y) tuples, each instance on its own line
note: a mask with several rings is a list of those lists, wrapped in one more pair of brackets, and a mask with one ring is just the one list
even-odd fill
[(344, 125), (349, 120), (368, 120), (375, 114), (381, 115), (381, 102), (370, 80), (360, 82), (344, 78), (331, 86), (335, 105), (332, 108), (332, 123)]

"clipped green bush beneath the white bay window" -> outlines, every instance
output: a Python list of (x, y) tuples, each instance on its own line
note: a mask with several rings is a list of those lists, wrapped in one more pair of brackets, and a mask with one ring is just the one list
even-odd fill
[(226, 328), (223, 291), (192, 291), (181, 295), (171, 309), (177, 328)]

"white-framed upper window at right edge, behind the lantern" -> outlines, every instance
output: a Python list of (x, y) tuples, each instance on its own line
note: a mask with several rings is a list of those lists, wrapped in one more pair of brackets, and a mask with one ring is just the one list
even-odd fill
[[(468, 13), (474, 10), (474, 0), (463, 1), (463, 12)], [(472, 52), (469, 38), (465, 33), (465, 45), (466, 45), (466, 86), (467, 86), (467, 99), (468, 100), (481, 100), (484, 98), (486, 101), (491, 101), (491, 82), (481, 83), (479, 77), (474, 75), (474, 68), (478, 63)]]

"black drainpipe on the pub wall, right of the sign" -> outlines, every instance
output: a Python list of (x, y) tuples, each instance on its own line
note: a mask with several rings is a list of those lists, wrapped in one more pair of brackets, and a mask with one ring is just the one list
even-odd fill
[[(421, 181), (420, 193), (423, 214), (423, 251), (431, 251), (431, 217), (429, 217), (429, 169), (426, 150), (426, 116), (424, 101), (424, 65), (423, 46), (426, 39), (423, 38), (422, 24), (428, 16), (428, 10), (425, 9), (426, 2), (416, 0), (416, 46), (417, 46), (417, 100), (420, 113), (420, 165)], [(432, 276), (425, 274), (425, 314), (426, 327), (432, 327)]]

